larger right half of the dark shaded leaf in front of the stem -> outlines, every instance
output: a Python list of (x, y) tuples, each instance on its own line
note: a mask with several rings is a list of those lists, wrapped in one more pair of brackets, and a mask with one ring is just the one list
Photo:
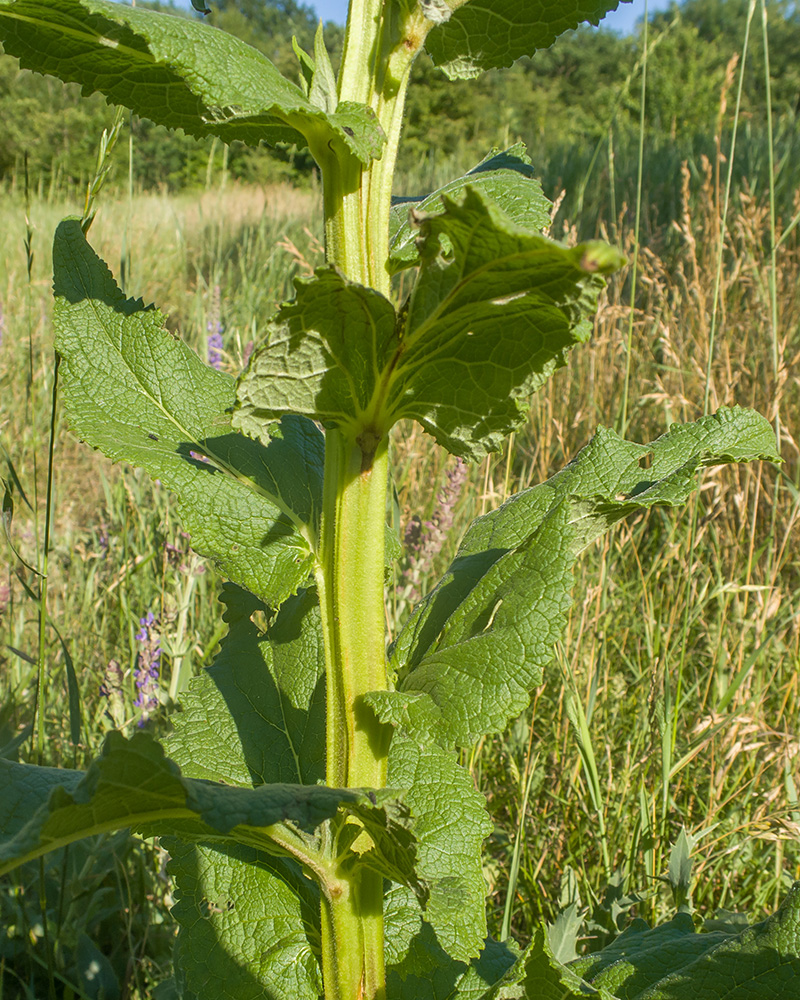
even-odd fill
[[(452, 454), (478, 460), (525, 417), (531, 394), (588, 339), (600, 274), (623, 258), (572, 249), (514, 225), (477, 191), (422, 220), (422, 265), (388, 409), (418, 420)], [(451, 252), (445, 256), (442, 238)]]

